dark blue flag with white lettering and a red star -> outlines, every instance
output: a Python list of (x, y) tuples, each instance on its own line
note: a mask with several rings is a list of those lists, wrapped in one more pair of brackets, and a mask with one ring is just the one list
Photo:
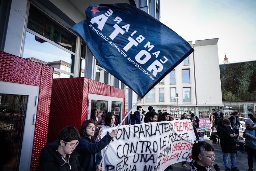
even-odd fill
[(194, 49), (169, 27), (126, 4), (91, 5), (75, 24), (102, 67), (144, 97)]

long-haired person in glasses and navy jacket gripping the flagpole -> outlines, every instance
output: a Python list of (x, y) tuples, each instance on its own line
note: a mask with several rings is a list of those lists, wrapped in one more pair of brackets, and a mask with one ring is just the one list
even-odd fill
[(100, 152), (118, 133), (116, 129), (96, 142), (93, 138), (94, 131), (95, 124), (93, 120), (85, 120), (79, 131), (81, 137), (76, 151), (80, 155), (78, 160), (83, 170), (100, 171), (102, 169), (99, 165), (102, 158)]

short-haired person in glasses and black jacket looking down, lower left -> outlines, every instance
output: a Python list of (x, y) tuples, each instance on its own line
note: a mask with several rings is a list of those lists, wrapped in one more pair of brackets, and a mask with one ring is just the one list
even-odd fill
[(78, 162), (78, 153), (75, 151), (79, 144), (80, 135), (73, 126), (66, 126), (59, 133), (59, 140), (47, 144), (38, 159), (36, 171), (45, 170), (71, 170), (82, 171)]

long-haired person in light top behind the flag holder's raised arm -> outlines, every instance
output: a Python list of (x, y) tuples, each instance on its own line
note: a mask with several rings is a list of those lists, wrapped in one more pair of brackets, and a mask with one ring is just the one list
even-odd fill
[(100, 129), (100, 131), (98, 133), (98, 136), (97, 136), (95, 141), (97, 142), (97, 141), (99, 141), (101, 139), (101, 133), (103, 132), (104, 129), (115, 127), (116, 126), (115, 122), (116, 122), (116, 115), (113, 112), (108, 112), (105, 115), (104, 124), (101, 127), (101, 129)]

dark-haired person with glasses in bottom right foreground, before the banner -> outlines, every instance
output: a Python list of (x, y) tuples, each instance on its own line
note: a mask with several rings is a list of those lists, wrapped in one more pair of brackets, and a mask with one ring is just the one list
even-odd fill
[(192, 147), (192, 159), (195, 160), (190, 166), (190, 171), (211, 171), (215, 161), (213, 147), (204, 141), (195, 141)]

